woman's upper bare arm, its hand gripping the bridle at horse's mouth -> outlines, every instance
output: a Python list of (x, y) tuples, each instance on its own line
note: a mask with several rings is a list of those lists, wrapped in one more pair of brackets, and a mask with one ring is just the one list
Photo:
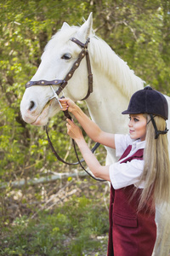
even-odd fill
[(115, 148), (115, 135), (109, 132), (102, 131), (98, 125), (96, 125), (88, 116), (82, 112), (82, 109), (77, 106), (77, 104), (69, 98), (59, 99), (63, 107), (63, 111), (66, 109), (71, 112), (82, 128), (91, 137), (94, 142), (101, 143), (110, 148)]

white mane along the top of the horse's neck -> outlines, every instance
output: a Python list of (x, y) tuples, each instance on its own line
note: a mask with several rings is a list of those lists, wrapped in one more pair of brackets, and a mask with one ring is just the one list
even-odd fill
[(136, 76), (125, 61), (101, 38), (91, 37), (91, 54), (94, 62), (107, 75), (111, 82), (122, 90), (122, 94), (131, 97), (136, 90), (144, 88), (144, 81)]

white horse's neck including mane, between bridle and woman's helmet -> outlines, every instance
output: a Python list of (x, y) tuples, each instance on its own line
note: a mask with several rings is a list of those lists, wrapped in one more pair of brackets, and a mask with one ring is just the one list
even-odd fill
[(127, 109), (133, 92), (144, 87), (144, 81), (104, 41), (93, 38), (91, 42), (94, 92), (86, 101), (90, 116), (102, 130), (126, 132), (122, 111)]

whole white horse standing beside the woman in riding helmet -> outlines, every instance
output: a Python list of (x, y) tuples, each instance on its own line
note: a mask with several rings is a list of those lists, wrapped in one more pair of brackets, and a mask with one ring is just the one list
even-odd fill
[[(102, 130), (127, 133), (127, 120), (121, 113), (127, 109), (133, 92), (144, 87), (144, 81), (129, 69), (127, 63), (122, 61), (105, 41), (94, 35), (92, 24), (92, 14), (80, 27), (64, 23), (59, 32), (48, 42), (42, 54), (42, 62), (31, 81), (64, 79), (82, 50), (71, 41), (71, 38), (77, 38), (82, 43), (90, 38), (88, 52), (94, 75), (94, 91), (86, 100), (89, 114)], [(58, 87), (59, 85), (54, 85), (55, 90)], [(63, 92), (65, 96), (77, 102), (87, 95), (87, 91), (88, 71), (84, 58)], [(55, 99), (50, 100), (53, 95), (50, 86), (37, 85), (26, 89), (20, 103), (22, 118), (26, 123), (46, 125), (48, 119), (59, 112), (58, 102)], [(170, 102), (168, 97), (167, 101)], [(114, 162), (116, 160), (114, 152), (111, 148), (106, 149), (107, 163)], [(169, 212), (169, 207), (156, 207), (158, 236), (153, 253), (155, 256), (167, 256), (169, 251)]]

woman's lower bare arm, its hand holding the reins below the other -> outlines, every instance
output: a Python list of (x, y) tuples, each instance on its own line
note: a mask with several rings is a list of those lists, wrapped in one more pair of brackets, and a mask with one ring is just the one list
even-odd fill
[(67, 133), (77, 143), (78, 148), (80, 148), (80, 151), (82, 153), (82, 157), (86, 161), (90, 171), (93, 172), (95, 177), (111, 181), (109, 166), (101, 166), (99, 164), (99, 161), (95, 158), (94, 154), (88, 148), (88, 145), (85, 142), (84, 137), (82, 136), (82, 131), (80, 130), (80, 128), (75, 125), (70, 119), (67, 119), (67, 122)]

